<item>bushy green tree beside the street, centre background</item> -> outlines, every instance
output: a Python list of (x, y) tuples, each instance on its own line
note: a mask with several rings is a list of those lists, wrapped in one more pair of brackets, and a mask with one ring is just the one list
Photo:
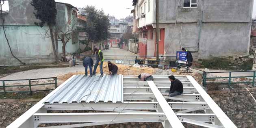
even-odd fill
[(108, 16), (104, 14), (103, 10), (97, 10), (94, 6), (87, 6), (85, 8), (85, 15), (87, 17), (85, 25), (85, 33), (88, 36), (87, 43), (85, 43), (87, 46), (91, 41), (98, 42), (110, 37), (108, 32), (110, 23)]

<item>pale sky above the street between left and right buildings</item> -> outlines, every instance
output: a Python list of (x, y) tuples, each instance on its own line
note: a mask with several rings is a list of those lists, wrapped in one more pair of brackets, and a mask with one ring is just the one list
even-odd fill
[[(65, 2), (72, 4), (74, 7), (85, 7), (93, 5), (97, 9), (103, 9), (106, 14), (114, 15), (117, 19), (125, 18), (130, 14), (132, 0), (55, 0), (56, 2)], [(131, 9), (126, 9), (131, 8)]]

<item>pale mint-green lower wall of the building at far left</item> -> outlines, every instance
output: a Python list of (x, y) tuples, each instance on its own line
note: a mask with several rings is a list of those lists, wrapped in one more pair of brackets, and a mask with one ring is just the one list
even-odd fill
[[(44, 29), (38, 26), (5, 26), (13, 54), (25, 63), (54, 62), (50, 38), (41, 36), (41, 33), (45, 33)], [(11, 55), (2, 27), (0, 35), (0, 63), (19, 63)]]

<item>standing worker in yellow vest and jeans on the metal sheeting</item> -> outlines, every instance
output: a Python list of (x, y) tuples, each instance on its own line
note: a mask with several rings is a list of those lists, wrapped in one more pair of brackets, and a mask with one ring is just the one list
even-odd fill
[(100, 76), (103, 76), (103, 62), (104, 62), (103, 52), (97, 48), (94, 48), (94, 52), (96, 56), (96, 63), (94, 65), (93, 75), (95, 75), (96, 69), (100, 63)]

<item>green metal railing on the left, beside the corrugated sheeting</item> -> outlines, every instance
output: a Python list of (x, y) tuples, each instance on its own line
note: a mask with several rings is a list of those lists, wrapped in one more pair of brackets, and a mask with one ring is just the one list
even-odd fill
[[(33, 80), (45, 80), (45, 79), (53, 79), (54, 82), (52, 83), (43, 83), (43, 84), (32, 84)], [(7, 82), (10, 81), (28, 81), (28, 85), (6, 85)], [(38, 78), (38, 79), (23, 79), (23, 80), (0, 80), (2, 82), (2, 86), (0, 88), (3, 88), (3, 91), (0, 91), (0, 93), (4, 93), (4, 97), (6, 97), (7, 93), (14, 93), (14, 92), (29, 92), (30, 95), (32, 95), (32, 87), (33, 86), (41, 86), (41, 85), (55, 85), (55, 89), (57, 88), (57, 78), (56, 77), (50, 77), (50, 78)], [(8, 87), (29, 87), (28, 91), (6, 91)], [(45, 90), (36, 90), (36, 91), (49, 91), (52, 89), (45, 89)]]

